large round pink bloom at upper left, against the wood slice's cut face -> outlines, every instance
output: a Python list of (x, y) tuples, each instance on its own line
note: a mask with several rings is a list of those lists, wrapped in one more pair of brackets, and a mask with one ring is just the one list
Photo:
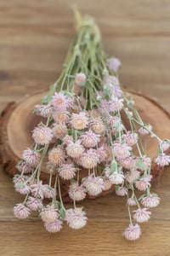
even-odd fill
[(32, 131), (32, 137), (35, 143), (47, 145), (53, 138), (53, 131), (45, 125), (38, 126)]

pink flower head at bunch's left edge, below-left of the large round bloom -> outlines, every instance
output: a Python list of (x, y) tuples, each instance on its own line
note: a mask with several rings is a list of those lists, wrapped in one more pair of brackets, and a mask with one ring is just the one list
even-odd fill
[(31, 148), (27, 148), (23, 151), (22, 158), (31, 166), (36, 166), (41, 158), (41, 154), (37, 153), (34, 150), (31, 150)]

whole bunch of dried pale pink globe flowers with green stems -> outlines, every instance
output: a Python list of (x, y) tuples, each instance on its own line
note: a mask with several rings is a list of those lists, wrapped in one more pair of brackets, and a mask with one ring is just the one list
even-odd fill
[[(158, 166), (170, 163), (166, 154), (170, 140), (161, 140), (140, 118), (132, 96), (122, 90), (120, 67), (116, 58), (106, 60), (94, 20), (77, 14), (77, 36), (65, 68), (35, 108), (42, 122), (32, 131), (34, 148), (26, 148), (17, 165), (20, 174), (14, 177), (14, 188), (26, 198), (14, 207), (16, 218), (37, 211), (48, 232), (58, 232), (64, 222), (81, 229), (88, 218), (77, 202), (114, 186), (116, 195), (127, 197), (130, 224), (123, 236), (131, 241), (139, 238), (139, 224), (150, 219), (150, 208), (160, 202), (150, 191), (152, 160), (141, 137), (158, 141), (153, 160)], [(131, 127), (128, 130), (122, 113)], [(42, 169), (49, 174), (48, 184), (42, 183)], [(84, 169), (87, 176), (81, 177)], [(62, 201), (61, 179), (70, 183), (70, 209)]]

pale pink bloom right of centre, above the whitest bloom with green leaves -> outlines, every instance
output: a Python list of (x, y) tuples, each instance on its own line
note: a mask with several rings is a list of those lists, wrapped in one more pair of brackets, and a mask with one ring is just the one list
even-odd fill
[(127, 146), (127, 144), (115, 143), (113, 146), (113, 154), (117, 160), (127, 158), (130, 155), (129, 150), (132, 150), (132, 148)]

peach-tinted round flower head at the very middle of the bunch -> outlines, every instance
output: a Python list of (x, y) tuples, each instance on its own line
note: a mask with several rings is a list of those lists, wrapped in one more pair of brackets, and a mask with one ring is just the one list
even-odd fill
[(96, 150), (93, 148), (88, 149), (87, 152), (84, 152), (82, 154), (82, 157), (80, 159), (82, 167), (86, 169), (92, 169), (99, 163), (99, 156), (96, 153)]

